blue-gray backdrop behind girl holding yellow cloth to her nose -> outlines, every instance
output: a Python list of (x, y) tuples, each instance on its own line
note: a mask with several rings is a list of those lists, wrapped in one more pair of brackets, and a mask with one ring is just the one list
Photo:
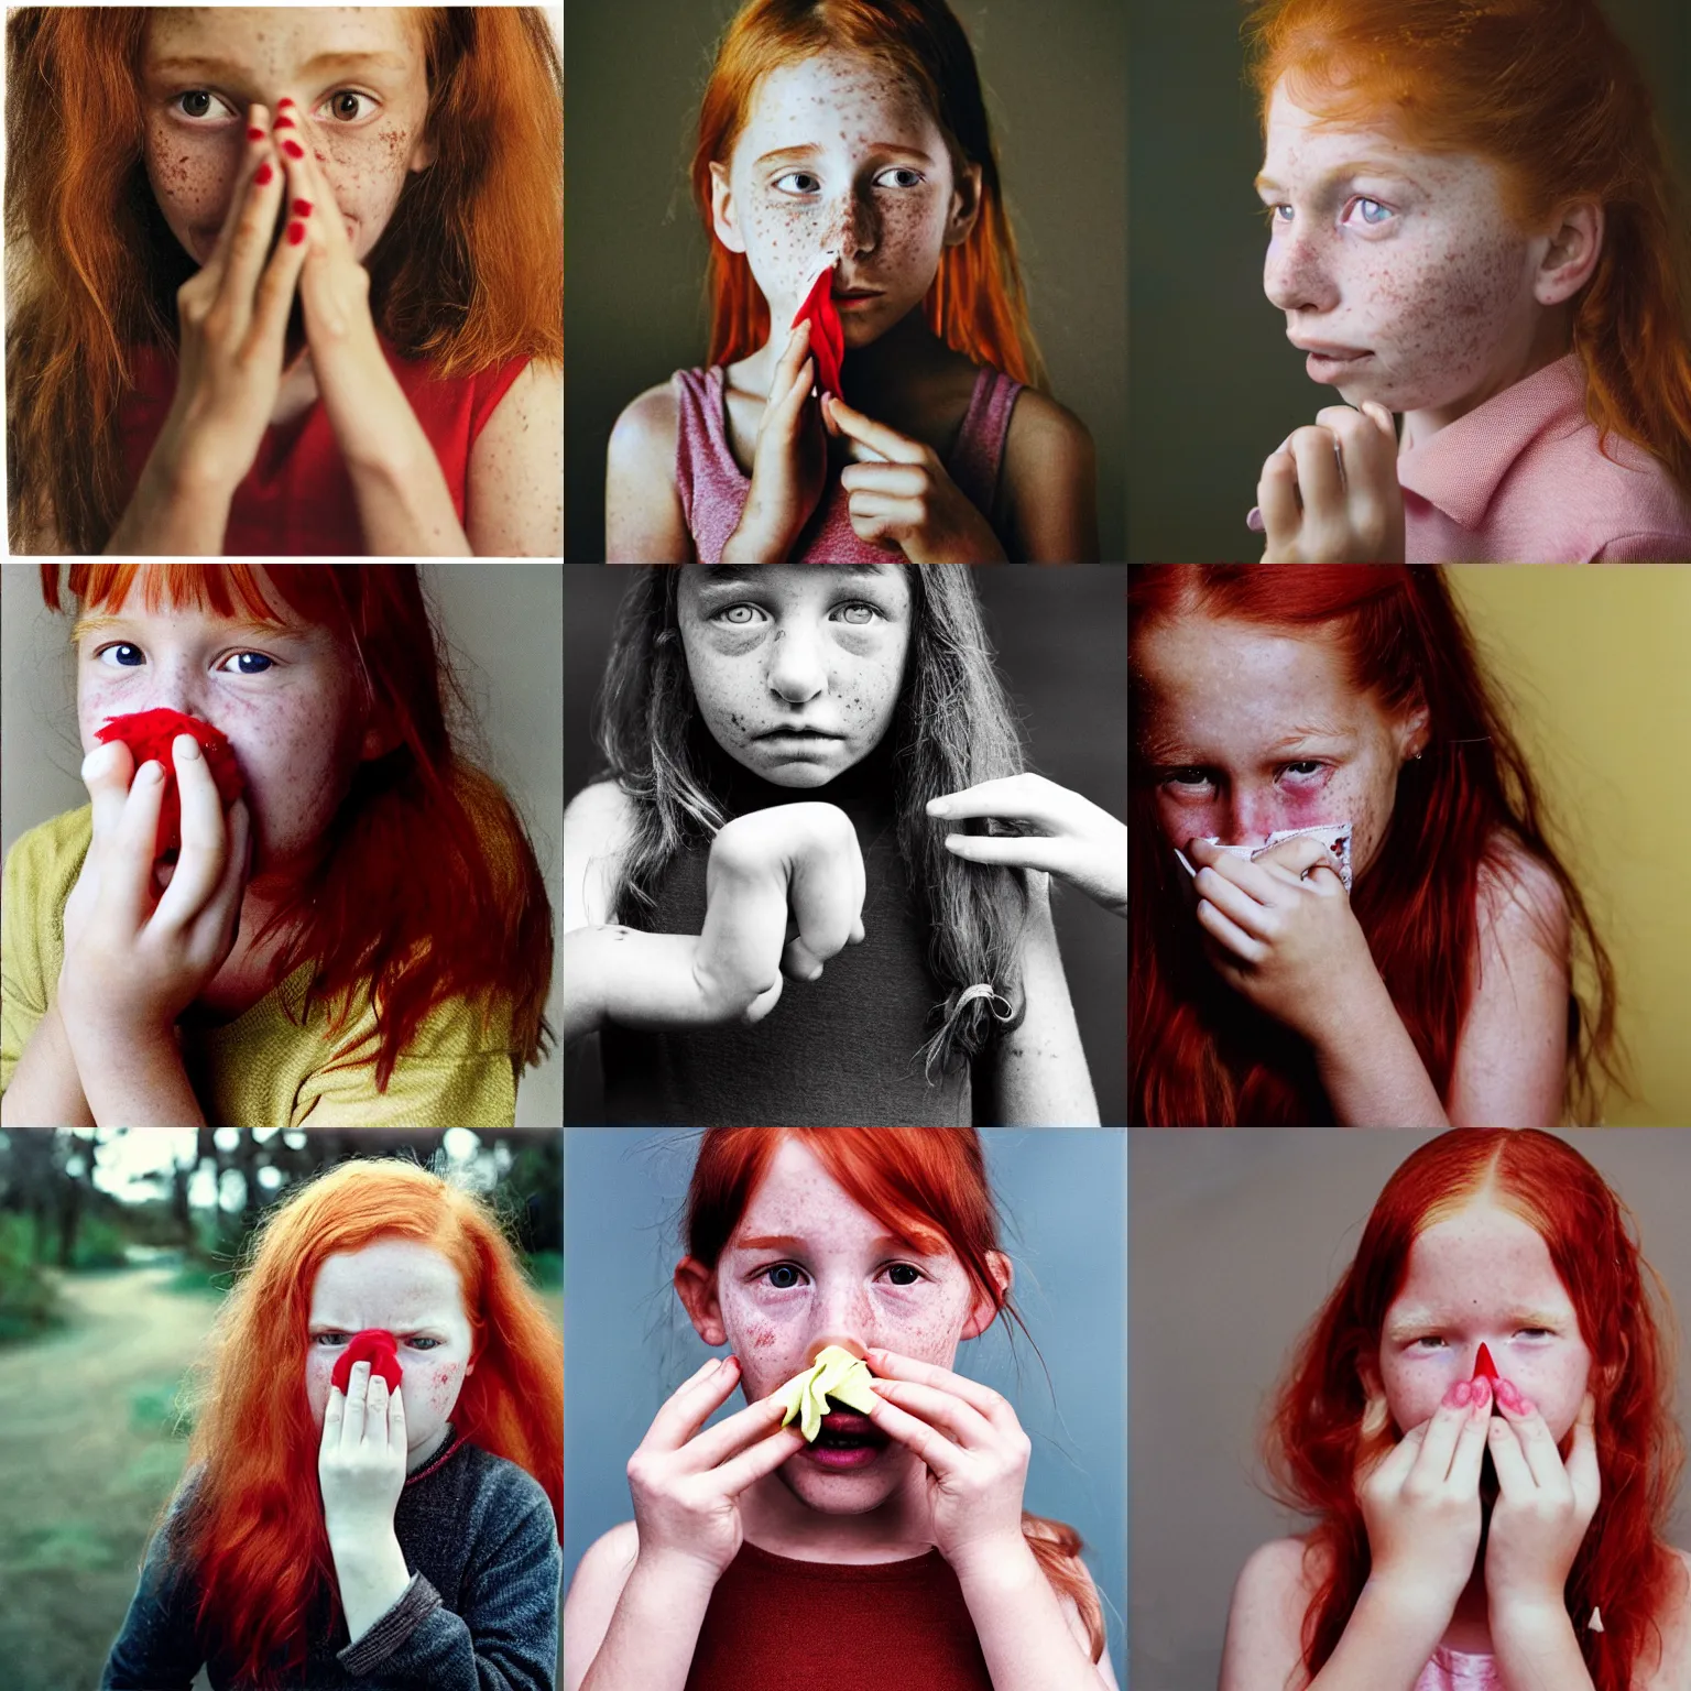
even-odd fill
[[(563, 1130), (563, 1588), (602, 1532), (632, 1519), (629, 1456), (671, 1392), (714, 1354), (670, 1282), (685, 1253), (698, 1133)], [(955, 1371), (1003, 1392), (1033, 1441), (1023, 1507), (1086, 1541), (1123, 1672), (1126, 1574), (1126, 1131), (986, 1128), (1011, 1292), (1045, 1368), (1001, 1321)], [(1008, 1331), (1016, 1331), (1015, 1358)], [(1045, 1383), (1050, 1370), (1050, 1388)], [(580, 1382), (572, 1402), (570, 1380)], [(741, 1392), (707, 1426), (744, 1409)]]

